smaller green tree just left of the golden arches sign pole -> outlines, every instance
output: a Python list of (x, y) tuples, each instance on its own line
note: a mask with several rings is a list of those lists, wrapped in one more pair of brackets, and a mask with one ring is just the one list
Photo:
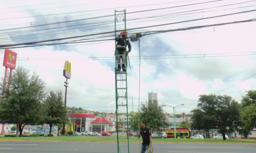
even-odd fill
[(49, 136), (51, 136), (52, 133), (52, 125), (68, 121), (67, 110), (63, 103), (61, 91), (57, 91), (56, 93), (53, 91), (49, 92), (44, 101), (44, 114), (45, 123), (50, 126)]

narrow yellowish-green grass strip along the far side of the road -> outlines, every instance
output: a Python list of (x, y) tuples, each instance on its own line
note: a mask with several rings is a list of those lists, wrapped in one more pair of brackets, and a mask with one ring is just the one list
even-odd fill
[[(0, 137), (0, 141), (69, 141), (69, 142), (98, 142), (116, 143), (116, 137), (87, 137), (87, 136), (57, 136), (57, 137)], [(140, 143), (142, 139), (129, 138), (130, 143)], [(243, 142), (241, 142), (243, 141)], [(221, 140), (221, 139), (152, 139), (153, 143), (225, 143), (225, 144), (255, 144), (256, 140)], [(127, 142), (127, 139), (119, 139), (119, 142)]]

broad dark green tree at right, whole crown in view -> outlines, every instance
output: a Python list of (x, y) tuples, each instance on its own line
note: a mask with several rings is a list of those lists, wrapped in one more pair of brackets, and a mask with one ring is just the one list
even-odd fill
[(225, 134), (239, 129), (241, 104), (230, 96), (217, 96), (214, 94), (200, 95), (198, 109), (193, 110), (191, 117), (192, 129), (202, 129), (208, 132), (209, 129), (218, 126), (219, 132), (226, 140)]

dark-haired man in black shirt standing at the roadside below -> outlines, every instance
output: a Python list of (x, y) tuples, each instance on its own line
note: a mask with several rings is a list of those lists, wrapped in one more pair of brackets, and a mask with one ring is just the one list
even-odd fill
[(140, 126), (141, 129), (140, 134), (138, 134), (138, 138), (142, 136), (143, 143), (141, 145), (141, 153), (145, 153), (148, 150), (148, 145), (152, 144), (152, 137), (150, 133), (150, 128), (146, 126), (145, 121), (141, 121)]

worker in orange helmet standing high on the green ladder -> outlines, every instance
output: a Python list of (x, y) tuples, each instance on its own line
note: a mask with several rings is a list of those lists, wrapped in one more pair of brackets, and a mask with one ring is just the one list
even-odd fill
[[(122, 63), (124, 63), (124, 64), (122, 64), (123, 72), (126, 71), (126, 67), (125, 67), (125, 51), (126, 51), (125, 50), (125, 45), (126, 44), (128, 45), (128, 49), (129, 49), (127, 51), (127, 55), (131, 52), (131, 43), (128, 39), (127, 33), (128, 33), (127, 31), (122, 31), (120, 33), (120, 35), (118, 37), (116, 37), (116, 39), (117, 39), (117, 44), (116, 44), (117, 52), (116, 52), (116, 54), (123, 54), (123, 56), (117, 56), (116, 58), (118, 60), (118, 63), (120, 63), (121, 58), (122, 58)], [(126, 40), (126, 43), (125, 43), (125, 40)], [(123, 47), (123, 48), (119, 48), (119, 46)], [(118, 64), (118, 69), (116, 69), (116, 71), (120, 71), (120, 70), (121, 70), (121, 64)]]

